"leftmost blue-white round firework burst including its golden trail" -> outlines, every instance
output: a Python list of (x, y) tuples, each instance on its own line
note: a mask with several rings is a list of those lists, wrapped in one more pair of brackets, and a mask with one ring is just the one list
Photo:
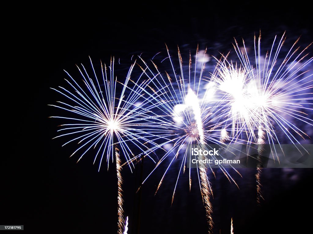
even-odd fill
[[(82, 76), (82, 85), (70, 77), (66, 80), (71, 87), (69, 91), (63, 87), (56, 90), (67, 99), (67, 102), (58, 102), (52, 105), (67, 111), (65, 116), (53, 116), (69, 120), (70, 123), (63, 124), (59, 131), (66, 132), (57, 137), (72, 136), (72, 139), (64, 145), (76, 141), (80, 144), (76, 152), (82, 151), (78, 161), (91, 150), (95, 150), (95, 159), (100, 157), (99, 168), (103, 158), (109, 166), (110, 159), (116, 161), (116, 173), (118, 179), (118, 233), (123, 232), (123, 198), (122, 198), (122, 176), (121, 159), (122, 154), (131, 168), (129, 160), (134, 156), (130, 145), (132, 144), (141, 152), (145, 152), (149, 140), (150, 117), (149, 106), (141, 103), (140, 91), (146, 83), (137, 84), (132, 81), (131, 72), (135, 64), (130, 66), (125, 82), (120, 83), (114, 73), (114, 58), (110, 60), (110, 66), (102, 66), (101, 76), (97, 77), (96, 70), (91, 62), (92, 73), (88, 73), (82, 65), (79, 69)], [(129, 84), (136, 84), (130, 86)], [(129, 85), (129, 86), (127, 86)], [(57, 138), (56, 137), (56, 138)], [(63, 145), (63, 146), (64, 146)], [(136, 151), (137, 152), (137, 151)]]

